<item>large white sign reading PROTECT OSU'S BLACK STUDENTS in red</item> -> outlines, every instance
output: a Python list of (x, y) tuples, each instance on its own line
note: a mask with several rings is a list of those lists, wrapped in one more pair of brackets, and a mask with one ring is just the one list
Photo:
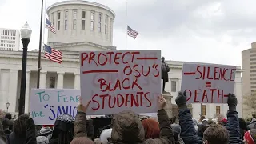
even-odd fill
[(82, 52), (82, 100), (91, 100), (87, 114), (157, 112), (160, 56), (160, 50)]

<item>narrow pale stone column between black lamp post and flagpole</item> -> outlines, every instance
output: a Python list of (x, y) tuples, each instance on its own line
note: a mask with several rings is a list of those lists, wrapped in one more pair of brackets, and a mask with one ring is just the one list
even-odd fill
[(25, 113), (30, 112), (30, 71), (26, 71)]

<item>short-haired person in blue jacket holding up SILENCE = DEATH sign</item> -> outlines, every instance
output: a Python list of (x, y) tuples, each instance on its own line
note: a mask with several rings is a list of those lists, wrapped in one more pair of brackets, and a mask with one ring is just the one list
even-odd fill
[[(179, 124), (182, 127), (181, 137), (185, 143), (202, 143), (194, 129), (190, 110), (186, 106), (186, 98), (186, 91), (183, 93), (179, 92), (175, 100), (179, 109)], [(229, 110), (227, 111), (226, 128), (217, 124), (210, 125), (203, 133), (203, 143), (242, 143), (241, 134), (239, 132), (238, 112), (236, 111), (238, 100), (235, 98), (234, 94), (228, 94), (227, 104)]]

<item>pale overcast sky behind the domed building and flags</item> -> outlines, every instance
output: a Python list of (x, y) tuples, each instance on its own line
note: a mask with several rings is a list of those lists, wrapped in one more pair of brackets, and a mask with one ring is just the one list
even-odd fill
[[(60, 0), (45, 0), (46, 7)], [(241, 66), (241, 51), (256, 41), (255, 0), (92, 0), (116, 13), (114, 46), (126, 48), (126, 21), (139, 32), (128, 50), (162, 50), (167, 60)], [(38, 49), (40, 0), (0, 0), (0, 27), (33, 30)], [(47, 33), (45, 33), (47, 35)], [(46, 37), (45, 37), (46, 43)]]

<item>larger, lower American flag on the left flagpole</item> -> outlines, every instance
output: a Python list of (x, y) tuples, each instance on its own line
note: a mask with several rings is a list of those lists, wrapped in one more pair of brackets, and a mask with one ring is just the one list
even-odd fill
[(50, 46), (45, 45), (45, 58), (53, 62), (62, 63), (62, 56), (62, 52), (54, 50)]

